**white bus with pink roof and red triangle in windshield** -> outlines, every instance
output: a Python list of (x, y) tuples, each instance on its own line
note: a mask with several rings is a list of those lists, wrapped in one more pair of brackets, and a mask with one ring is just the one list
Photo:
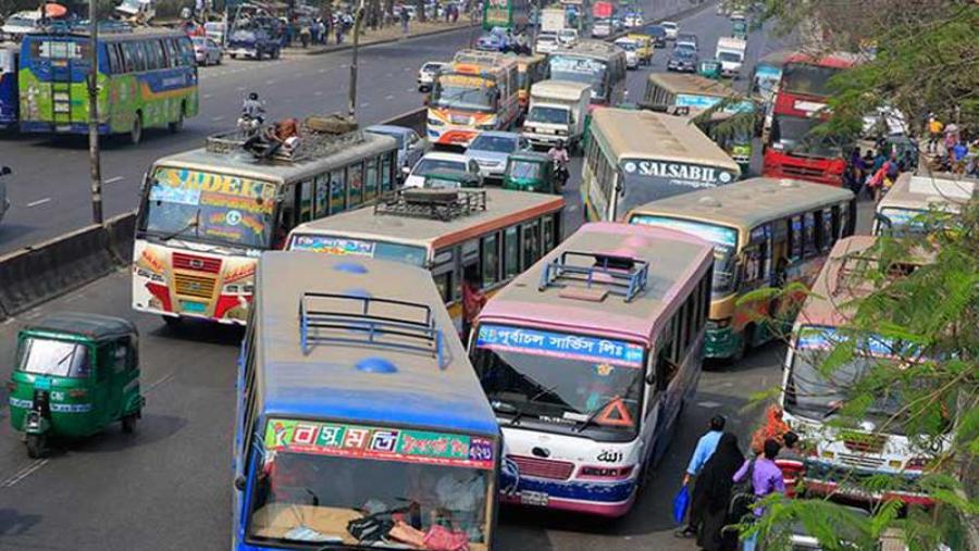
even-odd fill
[(696, 391), (712, 270), (689, 234), (585, 224), (490, 300), (469, 351), (504, 502), (629, 512)]

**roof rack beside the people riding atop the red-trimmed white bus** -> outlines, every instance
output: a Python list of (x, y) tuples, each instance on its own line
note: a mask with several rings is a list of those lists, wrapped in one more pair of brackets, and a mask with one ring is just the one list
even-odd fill
[[(319, 117), (317, 121), (320, 120)], [(356, 123), (351, 125), (337, 125), (338, 132), (324, 132), (322, 125), (311, 126), (312, 118), (299, 125), (299, 139), (293, 147), (283, 146), (269, 156), (253, 153), (256, 159), (272, 160), (287, 163), (297, 163), (311, 159), (319, 159), (336, 153), (343, 149), (356, 146), (364, 141), (362, 130), (357, 129)], [(273, 125), (262, 125), (257, 130), (244, 130), (234, 128), (208, 136), (207, 150), (210, 153), (231, 154), (246, 151), (245, 143), (253, 136), (260, 136), (271, 132)]]

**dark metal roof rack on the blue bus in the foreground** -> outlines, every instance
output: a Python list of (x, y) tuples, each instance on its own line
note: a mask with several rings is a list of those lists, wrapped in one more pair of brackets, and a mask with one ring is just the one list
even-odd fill
[(439, 368), (445, 365), (442, 330), (431, 306), (418, 302), (305, 291), (299, 297), (299, 343), (303, 354), (315, 345), (361, 345), (422, 352)]

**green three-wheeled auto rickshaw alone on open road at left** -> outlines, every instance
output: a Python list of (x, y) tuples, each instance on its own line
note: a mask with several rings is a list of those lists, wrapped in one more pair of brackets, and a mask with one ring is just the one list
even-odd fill
[(136, 326), (119, 317), (61, 313), (22, 329), (8, 389), (27, 454), (42, 456), (50, 437), (86, 437), (116, 421), (135, 430), (146, 403), (138, 348)]

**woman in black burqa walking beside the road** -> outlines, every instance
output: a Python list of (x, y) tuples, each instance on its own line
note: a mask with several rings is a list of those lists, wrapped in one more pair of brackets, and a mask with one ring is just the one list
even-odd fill
[(691, 509), (697, 510), (702, 518), (697, 544), (707, 551), (733, 551), (738, 547), (736, 530), (721, 530), (728, 524), (734, 473), (742, 465), (744, 454), (738, 447), (738, 437), (724, 433), (694, 485)]

